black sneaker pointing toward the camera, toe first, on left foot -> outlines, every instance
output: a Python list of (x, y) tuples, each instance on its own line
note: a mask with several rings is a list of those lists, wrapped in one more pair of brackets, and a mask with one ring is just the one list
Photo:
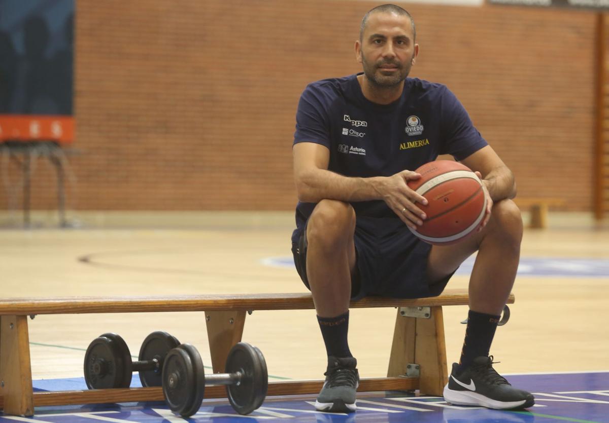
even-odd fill
[(351, 413), (356, 410), (355, 391), (359, 385), (357, 360), (328, 357), (328, 370), (324, 375), (322, 391), (315, 401), (315, 410), (331, 413)]

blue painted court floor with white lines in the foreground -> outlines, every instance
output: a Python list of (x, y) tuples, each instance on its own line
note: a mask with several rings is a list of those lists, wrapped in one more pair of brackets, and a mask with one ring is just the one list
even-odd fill
[[(510, 382), (535, 394), (537, 404), (524, 411), (489, 410), (447, 404), (442, 397), (415, 397), (404, 393), (361, 393), (358, 409), (351, 414), (316, 411), (315, 396), (268, 397), (262, 407), (248, 416), (236, 414), (225, 399), (204, 400), (189, 422), (375, 422), (395, 423), (490, 423), (490, 422), (607, 422), (609, 416), (609, 371), (508, 376)], [(75, 379), (84, 385), (83, 378)], [(52, 385), (52, 380), (45, 381)], [(56, 380), (54, 388), (62, 388)], [(34, 385), (40, 385), (34, 381)], [(69, 385), (74, 388), (73, 385)], [(34, 418), (0, 416), (2, 422), (81, 423), (185, 422), (163, 402), (39, 407)]]

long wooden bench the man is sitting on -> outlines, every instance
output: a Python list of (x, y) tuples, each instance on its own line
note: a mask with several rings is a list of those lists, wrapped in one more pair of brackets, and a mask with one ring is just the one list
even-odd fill
[[(510, 295), (508, 303), (513, 303)], [(465, 289), (432, 298), (367, 297), (351, 308), (398, 308), (387, 377), (364, 378), (359, 391), (420, 390), (441, 396), (448, 380), (442, 306), (466, 305)], [(223, 373), (231, 346), (241, 340), (246, 313), (313, 309), (311, 294), (184, 295), (171, 297), (9, 298), (0, 300), (0, 405), (5, 414), (32, 416), (43, 405), (163, 401), (160, 387), (33, 392), (27, 318), (42, 314), (203, 311), (214, 373)], [(323, 354), (323, 351), (319, 352)], [(318, 393), (323, 380), (270, 382), (268, 394)], [(224, 387), (205, 397), (224, 397)]]

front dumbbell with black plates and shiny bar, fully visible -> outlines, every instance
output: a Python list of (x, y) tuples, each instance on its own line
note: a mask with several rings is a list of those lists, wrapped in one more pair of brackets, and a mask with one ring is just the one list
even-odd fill
[(205, 374), (194, 346), (181, 344), (167, 353), (163, 364), (163, 394), (172, 411), (184, 418), (201, 407), (206, 385), (226, 385), (228, 401), (239, 414), (262, 405), (269, 386), (266, 361), (258, 348), (239, 342), (228, 353), (226, 373)]

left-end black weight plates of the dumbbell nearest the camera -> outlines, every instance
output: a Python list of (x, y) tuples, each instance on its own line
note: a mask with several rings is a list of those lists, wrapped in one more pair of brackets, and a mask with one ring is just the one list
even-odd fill
[(199, 353), (192, 354), (191, 349), (188, 346), (185, 348), (185, 344), (182, 344), (167, 353), (163, 364), (165, 401), (171, 411), (184, 417), (196, 413), (203, 401), (205, 374), (202, 371), (195, 373), (198, 355)]

